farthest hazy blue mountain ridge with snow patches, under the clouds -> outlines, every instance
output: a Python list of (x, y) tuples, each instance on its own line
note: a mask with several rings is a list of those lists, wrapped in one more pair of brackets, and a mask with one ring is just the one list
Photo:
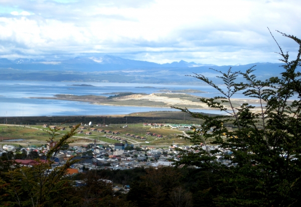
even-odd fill
[(19, 58), (14, 61), (2, 58), (0, 59), (0, 67), (11, 67), (20, 70), (73, 70), (92, 72), (104, 70), (123, 70), (123, 69), (146, 69), (146, 68), (179, 68), (179, 67), (199, 67), (199, 66), (215, 66), (213, 64), (188, 63), (181, 60), (180, 62), (158, 64), (147, 61), (129, 60), (110, 55), (103, 57), (90, 58), (74, 58), (60, 61), (33, 60)]

